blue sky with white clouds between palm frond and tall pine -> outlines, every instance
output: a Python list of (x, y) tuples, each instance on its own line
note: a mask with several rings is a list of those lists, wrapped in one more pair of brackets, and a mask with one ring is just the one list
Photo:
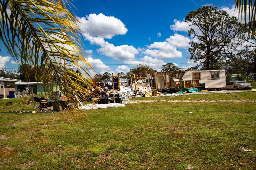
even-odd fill
[[(189, 59), (186, 14), (206, 4), (234, 12), (234, 0), (225, 1), (78, 1), (73, 9), (83, 24), (85, 50), (95, 73), (127, 72), (138, 63), (160, 70), (172, 62), (185, 70)], [(1, 45), (0, 67), (18, 68)], [(10, 57), (9, 57), (10, 56)], [(5, 57), (5, 58), (4, 58)]]

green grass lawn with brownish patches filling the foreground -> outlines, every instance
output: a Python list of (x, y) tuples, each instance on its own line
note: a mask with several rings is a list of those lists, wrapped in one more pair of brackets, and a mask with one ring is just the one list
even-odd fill
[[(188, 98), (248, 101), (158, 101)], [(256, 92), (144, 99), (158, 102), (85, 111), (86, 128), (60, 113), (0, 113), (0, 169), (256, 169)], [(0, 111), (32, 110), (21, 100)]]

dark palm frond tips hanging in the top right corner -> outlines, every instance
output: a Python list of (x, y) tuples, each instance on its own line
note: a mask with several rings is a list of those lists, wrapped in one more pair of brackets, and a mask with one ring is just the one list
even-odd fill
[[(247, 19), (246, 21), (246, 15), (247, 15), (247, 8), (249, 11), (249, 21)], [(248, 29), (248, 36), (251, 36), (251, 38), (254, 37), (255, 34), (255, 17), (256, 17), (256, 2), (254, 0), (236, 0), (235, 1), (235, 9), (238, 10), (239, 17), (244, 17), (245, 23), (248, 23), (249, 29)], [(244, 15), (244, 16), (243, 16)]]

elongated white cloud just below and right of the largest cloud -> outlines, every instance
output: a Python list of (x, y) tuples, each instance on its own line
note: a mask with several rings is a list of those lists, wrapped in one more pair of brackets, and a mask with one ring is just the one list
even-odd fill
[(138, 50), (134, 48), (132, 45), (114, 46), (110, 43), (97, 49), (97, 52), (100, 54), (104, 54), (105, 56), (112, 57), (118, 61), (134, 60), (135, 54), (139, 53)]

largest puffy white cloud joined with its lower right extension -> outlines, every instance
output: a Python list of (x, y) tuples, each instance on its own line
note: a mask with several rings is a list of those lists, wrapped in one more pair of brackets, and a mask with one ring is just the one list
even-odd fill
[(90, 44), (97, 44), (101, 47), (97, 49), (101, 55), (112, 57), (118, 61), (129, 61), (134, 60), (135, 54), (139, 53), (132, 45), (115, 46), (104, 40), (104, 38), (110, 39), (115, 35), (126, 34), (127, 28), (121, 20), (103, 14), (90, 14), (86, 18), (78, 17), (78, 20), (83, 24), (80, 25), (83, 36), (90, 41)]

